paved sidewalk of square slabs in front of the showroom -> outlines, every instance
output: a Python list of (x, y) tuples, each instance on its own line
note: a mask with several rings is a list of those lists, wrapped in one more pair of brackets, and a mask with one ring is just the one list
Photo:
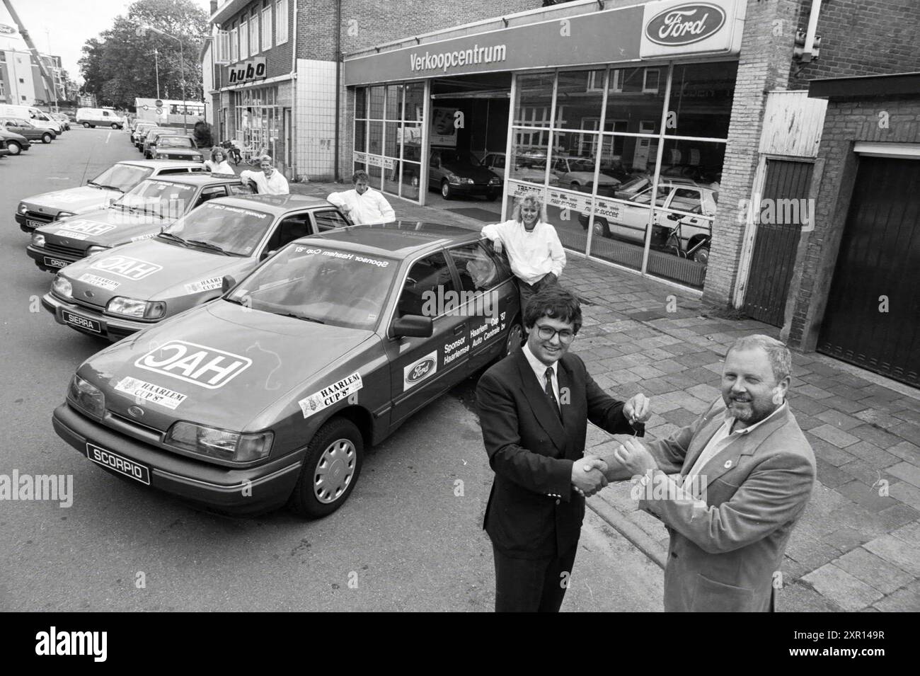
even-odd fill
[[(341, 185), (292, 184), (326, 195)], [(392, 200), (397, 215), (478, 229), (483, 223)], [(471, 202), (472, 204), (472, 202)], [(721, 361), (739, 336), (778, 329), (728, 319), (692, 293), (569, 255), (561, 280), (583, 299), (584, 327), (573, 347), (612, 394), (652, 397), (652, 438), (689, 424), (719, 396)], [(669, 312), (673, 310), (673, 312)], [(789, 406), (811, 442), (818, 482), (789, 540), (777, 607), (783, 611), (920, 610), (920, 390), (819, 354), (793, 352)], [(589, 430), (588, 447), (615, 442)], [(599, 502), (601, 501), (601, 502)], [(603, 502), (603, 504), (602, 504)], [(646, 533), (643, 551), (665, 560), (661, 522), (636, 509), (629, 486), (589, 500), (602, 516)], [(608, 520), (609, 521), (609, 520)], [(615, 523), (612, 522), (612, 525)]]

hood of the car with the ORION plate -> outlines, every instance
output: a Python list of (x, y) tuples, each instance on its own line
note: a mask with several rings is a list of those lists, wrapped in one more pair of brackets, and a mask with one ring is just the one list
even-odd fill
[(174, 220), (149, 212), (99, 209), (42, 225), (36, 232), (45, 235), (49, 244), (86, 250), (89, 246), (117, 246), (149, 239)]

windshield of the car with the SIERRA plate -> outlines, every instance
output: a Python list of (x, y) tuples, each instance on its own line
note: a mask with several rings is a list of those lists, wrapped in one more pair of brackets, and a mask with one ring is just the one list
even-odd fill
[(191, 246), (206, 246), (215, 253), (222, 252), (214, 246), (233, 256), (251, 256), (272, 221), (270, 213), (205, 202), (163, 232), (173, 235), (166, 239), (179, 238), (191, 242)]

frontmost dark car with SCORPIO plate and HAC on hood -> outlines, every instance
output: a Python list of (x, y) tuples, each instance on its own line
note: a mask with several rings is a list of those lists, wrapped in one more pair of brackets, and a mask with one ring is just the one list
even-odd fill
[[(424, 315), (425, 292), (474, 288), (471, 259), (491, 267), (489, 286)], [(305, 237), (224, 288), (85, 361), (57, 434), (139, 488), (322, 517), (351, 495), (365, 448), (521, 341), (510, 270), (478, 233), (446, 225)], [(477, 315), (485, 298), (494, 311)]]

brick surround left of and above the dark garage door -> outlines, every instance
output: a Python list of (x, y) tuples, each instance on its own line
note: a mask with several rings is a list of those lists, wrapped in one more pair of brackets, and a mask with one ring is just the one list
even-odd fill
[(920, 143), (920, 100), (842, 98), (828, 104), (819, 151), (824, 169), (815, 204), (814, 230), (802, 233), (796, 273), (789, 289), (793, 307), (788, 343), (798, 349), (811, 351), (818, 341), (857, 176), (858, 157), (853, 153), (853, 143), (857, 141)]

